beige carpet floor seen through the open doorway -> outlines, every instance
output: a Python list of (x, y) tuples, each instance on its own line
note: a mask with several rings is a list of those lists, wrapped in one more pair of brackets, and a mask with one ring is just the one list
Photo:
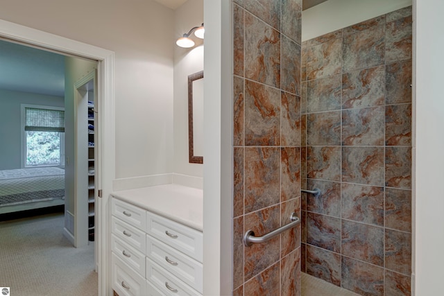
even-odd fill
[(14, 296), (95, 296), (94, 243), (75, 248), (63, 214), (0, 222), (0, 286)]

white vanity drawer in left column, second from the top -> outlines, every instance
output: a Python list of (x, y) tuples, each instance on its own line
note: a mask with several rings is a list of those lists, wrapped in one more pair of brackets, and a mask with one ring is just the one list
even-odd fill
[(111, 232), (115, 234), (125, 243), (135, 247), (135, 249), (141, 253), (146, 250), (146, 235), (145, 232), (140, 231), (136, 227), (117, 219), (116, 217), (111, 217)]

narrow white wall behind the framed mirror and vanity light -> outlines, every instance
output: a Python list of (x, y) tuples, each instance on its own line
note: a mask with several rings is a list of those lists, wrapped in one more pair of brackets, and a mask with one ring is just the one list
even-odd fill
[[(203, 23), (203, 0), (185, 2), (174, 16), (178, 38)], [(196, 42), (193, 48), (174, 47), (174, 173), (203, 177), (203, 165), (190, 164), (188, 159), (188, 76), (203, 70), (203, 42), (194, 34), (191, 38)]]

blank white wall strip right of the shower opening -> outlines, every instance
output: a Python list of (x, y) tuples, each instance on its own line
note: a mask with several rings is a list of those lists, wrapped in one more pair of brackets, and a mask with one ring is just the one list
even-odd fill
[[(416, 10), (416, 13), (415, 13)], [(416, 195), (414, 290), (443, 295), (444, 100), (442, 49), (444, 2), (415, 0), (413, 6), (413, 192)]]

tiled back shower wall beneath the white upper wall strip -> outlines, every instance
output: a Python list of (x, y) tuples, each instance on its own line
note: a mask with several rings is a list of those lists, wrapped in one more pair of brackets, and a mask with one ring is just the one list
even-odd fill
[(411, 295), (411, 7), (302, 43), (302, 271)]

